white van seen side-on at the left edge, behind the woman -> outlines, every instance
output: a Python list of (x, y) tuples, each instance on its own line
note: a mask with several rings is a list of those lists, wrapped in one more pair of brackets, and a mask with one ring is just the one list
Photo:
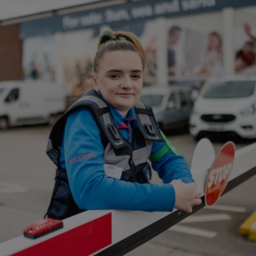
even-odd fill
[(49, 123), (66, 110), (62, 86), (43, 81), (0, 82), (0, 129)]

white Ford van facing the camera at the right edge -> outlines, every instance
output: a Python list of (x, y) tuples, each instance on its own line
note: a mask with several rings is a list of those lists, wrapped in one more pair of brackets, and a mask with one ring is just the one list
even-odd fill
[(256, 138), (256, 76), (206, 81), (190, 115), (190, 134)]

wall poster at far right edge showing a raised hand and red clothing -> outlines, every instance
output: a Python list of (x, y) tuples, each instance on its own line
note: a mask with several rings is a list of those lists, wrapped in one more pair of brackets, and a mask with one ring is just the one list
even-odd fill
[(234, 42), (236, 73), (256, 74), (256, 6), (237, 9)]

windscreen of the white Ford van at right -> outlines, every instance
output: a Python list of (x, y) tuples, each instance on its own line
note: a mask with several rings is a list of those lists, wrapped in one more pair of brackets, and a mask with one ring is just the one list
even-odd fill
[(207, 85), (204, 98), (250, 97), (255, 89), (255, 81), (214, 81)]

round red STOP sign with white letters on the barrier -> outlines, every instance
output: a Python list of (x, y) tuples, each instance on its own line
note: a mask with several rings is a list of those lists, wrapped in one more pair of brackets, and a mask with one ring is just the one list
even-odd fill
[(225, 190), (235, 158), (235, 144), (224, 144), (221, 151), (214, 159), (206, 180), (205, 204), (213, 206)]

